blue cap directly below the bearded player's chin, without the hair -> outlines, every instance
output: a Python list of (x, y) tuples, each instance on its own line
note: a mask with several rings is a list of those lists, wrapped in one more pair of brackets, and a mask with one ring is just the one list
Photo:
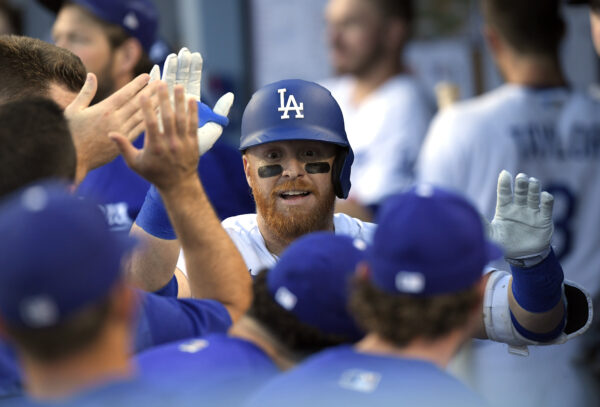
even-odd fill
[(350, 277), (364, 260), (366, 243), (329, 232), (294, 241), (267, 274), (275, 302), (326, 334), (358, 340), (363, 334), (347, 310)]

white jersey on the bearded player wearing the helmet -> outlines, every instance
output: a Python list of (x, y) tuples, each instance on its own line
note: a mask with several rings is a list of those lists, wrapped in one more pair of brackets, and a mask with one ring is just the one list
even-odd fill
[[(262, 269), (273, 267), (279, 260), (279, 257), (267, 249), (265, 240), (258, 230), (256, 214), (232, 216), (221, 224), (242, 254), (248, 270), (253, 275)], [(358, 238), (367, 243), (371, 243), (373, 240), (376, 228), (373, 223), (362, 222), (341, 213), (333, 215), (333, 225), (336, 234)], [(186, 272), (183, 252), (179, 255), (177, 267)]]

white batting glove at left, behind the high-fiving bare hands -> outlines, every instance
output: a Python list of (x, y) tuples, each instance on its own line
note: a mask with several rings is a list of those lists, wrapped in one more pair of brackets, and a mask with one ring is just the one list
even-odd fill
[[(163, 66), (162, 80), (167, 83), (169, 88), (169, 97), (171, 98), (171, 105), (174, 106), (173, 101), (173, 88), (175, 85), (183, 85), (185, 89), (185, 98), (194, 98), (197, 102), (200, 102), (200, 88), (202, 80), (202, 55), (199, 52), (190, 52), (187, 48), (182, 48), (178, 55), (170, 54), (165, 60)], [(158, 65), (154, 65), (150, 71), (150, 82), (161, 80), (160, 68)], [(199, 105), (200, 119), (202, 121), (203, 111), (206, 114), (206, 119), (215, 119), (218, 121), (218, 117), (211, 116), (210, 113), (216, 113), (223, 117), (227, 117), (231, 105), (233, 104), (233, 93), (229, 92), (221, 96), (217, 103), (215, 103), (212, 111), (208, 109), (202, 109)], [(206, 105), (204, 105), (206, 106)], [(204, 154), (215, 144), (221, 134), (223, 134), (223, 122), (207, 121), (204, 125), (198, 128), (198, 146), (200, 149), (200, 155)], [(161, 120), (159, 119), (159, 124)]]

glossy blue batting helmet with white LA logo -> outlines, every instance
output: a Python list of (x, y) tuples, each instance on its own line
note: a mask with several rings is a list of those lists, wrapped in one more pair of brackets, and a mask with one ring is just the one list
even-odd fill
[(254, 93), (242, 117), (240, 150), (286, 140), (323, 141), (340, 146), (332, 181), (335, 194), (348, 197), (354, 153), (342, 111), (327, 89), (314, 82), (287, 79)]

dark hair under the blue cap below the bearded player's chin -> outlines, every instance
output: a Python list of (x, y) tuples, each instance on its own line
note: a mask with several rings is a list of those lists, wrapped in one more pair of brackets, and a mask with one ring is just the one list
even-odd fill
[(273, 300), (267, 286), (268, 270), (261, 271), (252, 285), (254, 300), (248, 315), (257, 320), (291, 352), (311, 354), (330, 346), (351, 342), (342, 335), (327, 334), (305, 324)]

